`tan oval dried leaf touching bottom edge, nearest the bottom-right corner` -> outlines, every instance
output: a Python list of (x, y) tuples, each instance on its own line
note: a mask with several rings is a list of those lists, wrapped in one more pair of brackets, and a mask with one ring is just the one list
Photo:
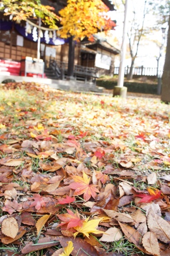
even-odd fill
[(155, 256), (160, 256), (158, 239), (153, 232), (147, 232), (146, 234), (144, 234), (142, 238), (142, 244), (144, 249), (146, 249), (148, 253), (151, 253)]

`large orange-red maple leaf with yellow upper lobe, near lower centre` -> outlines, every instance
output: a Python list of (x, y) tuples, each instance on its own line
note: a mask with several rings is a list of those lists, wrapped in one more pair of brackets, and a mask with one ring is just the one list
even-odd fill
[(95, 199), (96, 192), (99, 193), (98, 189), (96, 189), (96, 185), (89, 184), (90, 179), (85, 172), (83, 172), (83, 177), (72, 176), (75, 182), (71, 183), (69, 187), (74, 189), (74, 196), (79, 196), (84, 194), (83, 198), (85, 201), (88, 201), (91, 196)]

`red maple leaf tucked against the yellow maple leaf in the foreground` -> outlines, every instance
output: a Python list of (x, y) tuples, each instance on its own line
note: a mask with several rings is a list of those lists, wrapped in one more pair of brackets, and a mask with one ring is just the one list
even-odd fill
[(58, 218), (60, 220), (62, 220), (62, 223), (59, 224), (58, 226), (68, 224), (67, 229), (71, 229), (71, 228), (74, 228), (76, 226), (82, 226), (83, 225), (84, 220), (81, 220), (81, 218), (78, 214), (78, 211), (76, 213), (74, 213), (71, 210), (67, 209), (67, 212), (68, 213), (66, 213), (66, 214), (58, 214), (57, 215)]

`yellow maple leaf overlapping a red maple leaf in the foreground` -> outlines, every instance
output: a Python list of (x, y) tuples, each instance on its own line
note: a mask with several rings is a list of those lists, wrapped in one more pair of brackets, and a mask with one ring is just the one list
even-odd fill
[(89, 238), (89, 234), (103, 234), (103, 231), (97, 230), (96, 227), (98, 226), (99, 222), (102, 219), (97, 219), (97, 220), (89, 220), (84, 221), (82, 226), (76, 226), (74, 229), (77, 230), (76, 233), (74, 233), (74, 237), (77, 236), (78, 233), (82, 233), (83, 235), (87, 236)]

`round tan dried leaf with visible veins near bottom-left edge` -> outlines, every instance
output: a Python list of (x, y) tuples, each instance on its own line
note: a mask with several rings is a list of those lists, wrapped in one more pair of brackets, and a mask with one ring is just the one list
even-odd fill
[(13, 217), (2, 221), (1, 231), (4, 235), (9, 236), (10, 238), (15, 238), (18, 230), (18, 223)]

